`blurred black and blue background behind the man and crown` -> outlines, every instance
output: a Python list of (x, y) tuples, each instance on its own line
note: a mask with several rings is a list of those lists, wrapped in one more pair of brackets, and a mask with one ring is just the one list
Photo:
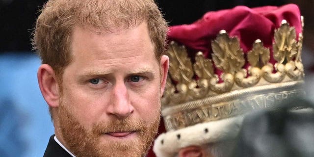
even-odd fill
[[(37, 83), (40, 60), (30, 38), (47, 0), (0, 0), (0, 157), (42, 157), (53, 134)], [(157, 0), (169, 25), (190, 24), (208, 11), (296, 3), (305, 19), (303, 64), (308, 95), (314, 82), (314, 0)], [(311, 29), (312, 28), (312, 29)], [(150, 153), (151, 154), (151, 153)]]

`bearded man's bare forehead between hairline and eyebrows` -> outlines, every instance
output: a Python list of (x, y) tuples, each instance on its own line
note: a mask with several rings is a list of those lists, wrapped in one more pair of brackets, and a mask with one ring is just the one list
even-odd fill
[(112, 67), (122, 64), (127, 66), (134, 62), (158, 63), (146, 23), (127, 29), (112, 29), (110, 32), (75, 27), (71, 49), (71, 64), (76, 66)]

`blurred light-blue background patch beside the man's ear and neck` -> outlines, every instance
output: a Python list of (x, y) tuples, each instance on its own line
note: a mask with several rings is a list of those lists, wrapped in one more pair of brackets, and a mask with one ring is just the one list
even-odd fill
[(0, 156), (42, 157), (53, 134), (32, 53), (0, 55)]

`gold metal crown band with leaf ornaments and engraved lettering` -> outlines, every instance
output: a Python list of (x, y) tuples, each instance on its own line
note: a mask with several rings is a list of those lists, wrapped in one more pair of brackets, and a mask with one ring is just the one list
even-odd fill
[[(283, 20), (274, 32), (275, 64), (269, 62), (270, 50), (261, 40), (255, 41), (245, 57), (238, 38), (229, 37), (225, 30), (211, 41), (212, 60), (198, 52), (192, 64), (185, 47), (171, 42), (167, 51), (170, 76), (161, 100), (166, 130), (274, 108), (284, 100), (303, 96), (302, 40), (302, 33), (297, 41), (295, 28)], [(223, 72), (221, 80), (214, 67)]]

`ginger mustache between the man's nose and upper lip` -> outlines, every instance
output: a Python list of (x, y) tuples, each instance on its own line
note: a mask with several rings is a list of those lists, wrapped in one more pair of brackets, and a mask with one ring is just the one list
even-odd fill
[(110, 132), (144, 132), (148, 127), (142, 120), (114, 119), (108, 122), (100, 122), (93, 126), (93, 134), (105, 134)]

